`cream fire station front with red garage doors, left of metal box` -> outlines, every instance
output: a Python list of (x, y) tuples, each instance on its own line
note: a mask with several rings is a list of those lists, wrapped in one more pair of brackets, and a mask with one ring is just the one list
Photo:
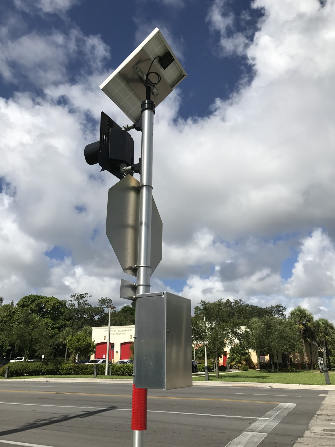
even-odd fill
[[(130, 357), (130, 344), (134, 342), (135, 326), (111, 326), (109, 360), (113, 363)], [(91, 358), (106, 358), (108, 326), (92, 327), (92, 341), (96, 352)]]

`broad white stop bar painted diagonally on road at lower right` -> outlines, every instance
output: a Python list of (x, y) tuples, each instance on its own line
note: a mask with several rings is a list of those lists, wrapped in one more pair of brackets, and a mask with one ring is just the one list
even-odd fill
[(267, 421), (259, 419), (251, 424), (247, 430), (233, 439), (226, 445), (226, 447), (243, 447), (247, 444), (248, 447), (257, 447), (263, 441), (268, 433), (279, 423), (282, 418), (291, 411), (296, 404), (281, 403), (273, 410), (264, 414), (264, 418), (268, 417)]

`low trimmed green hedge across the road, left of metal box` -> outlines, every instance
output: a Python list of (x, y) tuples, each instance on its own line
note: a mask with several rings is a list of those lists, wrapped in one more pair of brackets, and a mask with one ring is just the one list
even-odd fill
[[(0, 376), (4, 377), (6, 367), (9, 366), (10, 377), (24, 375), (93, 375), (94, 365), (70, 363), (59, 360), (50, 362), (13, 362), (0, 368)], [(105, 375), (106, 365), (98, 364), (98, 375)], [(108, 367), (108, 372), (109, 372)], [(112, 375), (133, 375), (133, 365), (113, 365)]]

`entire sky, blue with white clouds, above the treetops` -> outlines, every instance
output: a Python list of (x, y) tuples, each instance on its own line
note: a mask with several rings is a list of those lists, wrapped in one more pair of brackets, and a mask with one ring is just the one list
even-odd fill
[(155, 114), (152, 290), (335, 318), (334, 2), (111, 4), (0, 5), (0, 295), (124, 304), (105, 236), (117, 179), (83, 151), (101, 110), (129, 122), (99, 85), (158, 27), (188, 76)]

